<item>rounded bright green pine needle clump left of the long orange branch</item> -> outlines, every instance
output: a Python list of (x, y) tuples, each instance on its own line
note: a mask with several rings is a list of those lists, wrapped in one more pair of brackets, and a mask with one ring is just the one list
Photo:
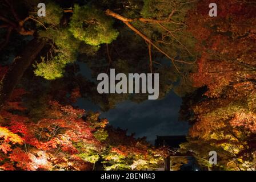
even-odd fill
[(111, 43), (118, 36), (113, 27), (113, 20), (102, 11), (88, 6), (75, 5), (70, 22), (70, 31), (75, 38), (91, 46)]

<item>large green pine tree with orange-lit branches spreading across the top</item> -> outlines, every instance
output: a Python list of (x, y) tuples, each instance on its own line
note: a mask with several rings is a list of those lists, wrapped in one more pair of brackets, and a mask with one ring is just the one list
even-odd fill
[[(39, 2), (46, 5), (45, 17), (37, 16)], [(193, 2), (186, 0), (77, 4), (73, 1), (3, 1), (0, 7), (5, 11), (1, 14), (1, 21), (5, 23), (1, 24), (1, 34), (6, 35), (1, 48), (3, 64), (11, 55), (16, 57), (1, 82), (1, 105), (31, 65), (36, 76), (58, 80), (69, 74), (67, 67), (76, 60), (86, 62), (93, 78), (110, 68), (123, 73), (159, 73), (159, 98), (163, 98), (174, 88), (173, 82), (183, 82), (183, 77), (193, 68), (194, 39), (184, 23), (191, 7)], [(20, 47), (23, 51), (19, 51)], [(91, 94), (95, 83), (85, 79), (82, 82), (85, 83), (82, 86), (91, 86), (83, 90), (82, 97), (91, 96), (91, 100), (105, 110), (119, 101), (146, 99), (145, 94), (97, 96)]]

